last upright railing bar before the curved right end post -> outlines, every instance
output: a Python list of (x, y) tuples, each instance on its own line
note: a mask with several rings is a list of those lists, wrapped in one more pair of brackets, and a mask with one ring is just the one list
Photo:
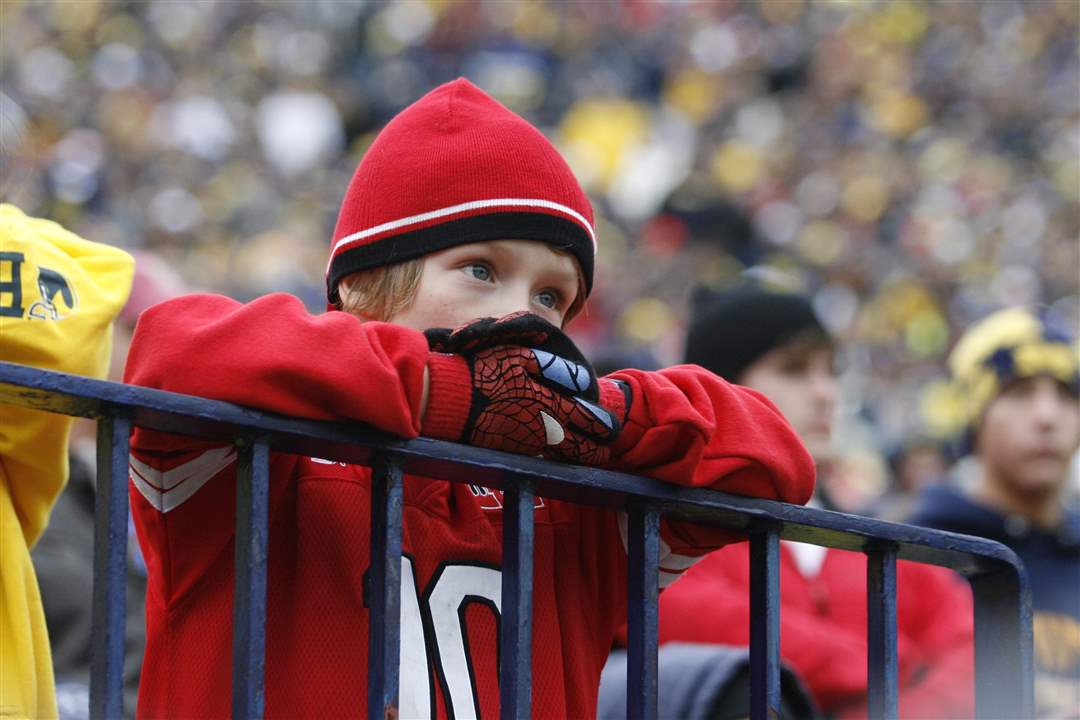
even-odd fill
[(896, 547), (890, 543), (866, 553), (866, 643), (867, 714), (870, 720), (895, 720)]

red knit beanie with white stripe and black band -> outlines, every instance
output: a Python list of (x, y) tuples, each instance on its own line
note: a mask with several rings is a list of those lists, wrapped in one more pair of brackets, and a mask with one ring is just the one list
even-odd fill
[(593, 285), (593, 209), (536, 127), (463, 78), (402, 110), (349, 182), (326, 268), (346, 275), (488, 240), (538, 240), (573, 255)]

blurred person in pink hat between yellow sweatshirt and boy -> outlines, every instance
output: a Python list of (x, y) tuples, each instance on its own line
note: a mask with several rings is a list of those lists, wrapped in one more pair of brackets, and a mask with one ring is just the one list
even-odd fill
[[(185, 289), (184, 281), (159, 257), (148, 252), (135, 254), (131, 296), (113, 324), (110, 380), (120, 381), (123, 375), (139, 314), (152, 304), (181, 295)], [(69, 447), (70, 479), (56, 500), (50, 525), (35, 545), (31, 558), (49, 628), (59, 717), (79, 720), (90, 717), (96, 423), (76, 421)], [(134, 532), (129, 539), (124, 710), (127, 717), (134, 717), (146, 643), (146, 567)]]

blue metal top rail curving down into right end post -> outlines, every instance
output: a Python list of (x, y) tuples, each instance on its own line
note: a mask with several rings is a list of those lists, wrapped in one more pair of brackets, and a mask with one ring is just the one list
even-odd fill
[[(975, 592), (976, 706), (980, 717), (1026, 717), (1030, 711), (1031, 620), (1027, 578), (1016, 556), (1003, 545), (991, 541), (767, 500), (727, 495), (711, 490), (678, 488), (648, 478), (561, 465), (438, 440), (418, 438), (406, 441), (359, 425), (283, 418), (228, 403), (66, 376), (9, 363), (0, 363), (0, 402), (81, 417), (108, 418), (118, 412), (126, 413), (133, 424), (147, 429), (229, 443), (258, 438), (278, 451), (355, 464), (372, 465), (377, 453), (388, 453), (388, 457), (395, 459), (402, 473), (503, 490), (525, 481), (531, 486), (531, 492), (548, 498), (615, 508), (630, 507), (636, 511), (631, 513), (631, 562), (635, 562), (637, 554), (639, 562), (633, 567), (651, 573), (649, 576), (652, 578), (652, 587), (657, 576), (653, 548), (659, 543), (660, 513), (702, 525), (741, 530), (752, 536), (765, 531), (767, 538), (772, 536), (772, 540), (766, 541), (766, 546), (784, 538), (870, 553), (886, 543), (895, 548), (896, 558), (949, 567), (971, 581)], [(126, 467), (123, 474), (126, 474)], [(373, 498), (373, 513), (374, 511)], [(373, 529), (377, 522), (378, 518), (374, 518)], [(394, 535), (399, 543), (399, 560), (391, 565), (400, 572), (400, 519), (396, 530), (388, 529), (386, 533), (388, 544), (390, 535)], [(374, 547), (373, 543), (373, 549)], [(387, 553), (387, 557), (390, 555)], [(757, 562), (759, 568), (755, 572), (767, 578), (769, 572), (777, 571), (778, 566), (769, 559), (775, 559), (774, 553), (767, 551), (761, 555), (762, 558)], [(373, 571), (378, 561), (373, 557)], [(389, 581), (390, 573), (387, 570), (383, 570), (383, 574)], [(529, 587), (530, 574), (527, 575)], [(629, 669), (639, 682), (636, 691), (645, 698), (642, 717), (654, 717), (654, 688), (650, 691), (646, 685), (650, 681), (654, 683), (656, 679), (656, 595), (654, 590), (650, 594), (649, 583), (639, 582), (645, 578), (643, 573), (635, 580), (635, 573), (631, 573), (630, 582), (634, 594), (631, 595), (633, 602), (629, 607), (630, 641), (632, 647), (636, 642), (643, 650), (651, 650), (648, 654), (651, 655), (652, 666), (650, 668), (648, 658), (642, 656), (644, 653), (638, 653), (638, 669), (634, 669), (633, 661)], [(238, 585), (239, 583), (238, 578)], [(387, 585), (394, 589), (387, 588)], [(765, 585), (768, 588), (769, 583), (766, 582)], [(382, 587), (387, 593), (394, 594), (400, 589), (390, 582)], [(766, 595), (772, 598), (779, 610), (779, 595), (770, 595), (768, 589)], [(111, 595), (109, 597), (112, 598)], [(769, 602), (765, 604), (767, 610)], [(755, 606), (755, 610), (760, 611), (761, 608)], [(116, 611), (113, 609), (106, 614), (112, 616)], [(885, 614), (888, 615), (888, 609)], [(765, 612), (764, 615), (765, 621), (752, 616), (752, 623), (764, 622), (768, 626), (778, 622), (777, 613), (770, 615)], [(373, 619), (375, 616), (373, 609)], [(391, 619), (387, 625), (392, 627), (394, 637), (392, 641), (388, 637), (387, 642), (393, 646), (393, 653), (396, 655), (396, 619), (394, 614), (384, 616)], [(769, 655), (771, 652), (764, 654)], [(758, 653), (755, 657), (755, 671), (767, 677), (768, 664), (761, 655), (762, 653)], [(396, 665), (387, 664), (387, 655), (383, 655), (383, 688), (393, 681), (395, 698)], [(885, 673), (886, 676), (891, 676), (891, 680), (887, 678), (886, 682), (894, 683), (894, 664), (891, 668), (887, 664)], [(118, 677), (119, 675), (116, 676)], [(93, 678), (92, 683), (100, 690), (106, 687), (107, 681), (111, 682), (116, 678), (102, 673)], [(111, 689), (109, 692), (112, 692)], [(648, 699), (650, 692), (651, 701)], [(769, 691), (765, 692), (768, 694)], [(768, 703), (759, 703), (755, 717), (764, 717), (760, 712), (766, 705)], [(885, 705), (888, 705), (887, 699)], [(629, 709), (631, 714), (635, 712), (633, 705)], [(98, 717), (108, 716), (103, 714)]]

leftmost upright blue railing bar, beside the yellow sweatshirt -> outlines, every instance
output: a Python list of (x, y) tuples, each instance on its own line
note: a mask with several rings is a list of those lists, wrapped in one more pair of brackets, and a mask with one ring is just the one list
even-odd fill
[(124, 714), (124, 625), (127, 573), (127, 439), (130, 413), (97, 422), (97, 497), (94, 503), (93, 644), (90, 715)]

